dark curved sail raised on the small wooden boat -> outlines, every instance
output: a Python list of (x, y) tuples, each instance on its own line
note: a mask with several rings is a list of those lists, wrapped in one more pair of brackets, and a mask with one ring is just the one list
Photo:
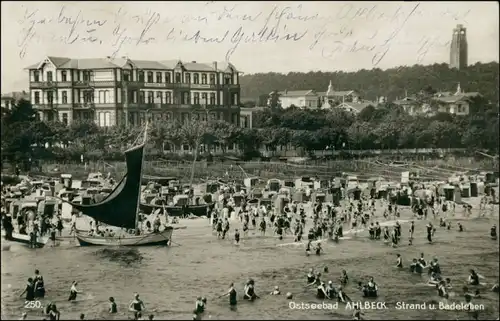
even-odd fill
[(75, 209), (104, 224), (134, 229), (141, 189), (144, 144), (125, 152), (127, 174), (100, 203), (81, 205), (69, 202)]

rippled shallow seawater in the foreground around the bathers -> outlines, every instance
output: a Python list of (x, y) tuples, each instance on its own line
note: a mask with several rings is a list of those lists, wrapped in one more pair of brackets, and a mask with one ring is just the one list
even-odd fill
[[(457, 212), (460, 211), (457, 207)], [(170, 248), (137, 249), (143, 256), (140, 264), (110, 261), (99, 255), (102, 248), (80, 248), (69, 241), (55, 248), (47, 246), (35, 251), (12, 245), (9, 251), (2, 252), (2, 318), (19, 318), (23, 311), (28, 313), (28, 318), (42, 318), (41, 311), (23, 309), (24, 300), (19, 298), (26, 278), (32, 276), (35, 269), (40, 269), (46, 283), (47, 298), (42, 302), (55, 301), (62, 319), (76, 319), (80, 313), (85, 313), (86, 319), (127, 319), (132, 316), (126, 310), (134, 292), (140, 293), (146, 304), (144, 314), (153, 313), (156, 319), (190, 319), (197, 296), (208, 298), (205, 320), (350, 318), (352, 311), (345, 310), (342, 305), (339, 310), (293, 310), (284, 295), (267, 295), (279, 285), (282, 293), (294, 294), (293, 302), (321, 303), (315, 298), (315, 289), (305, 288), (305, 274), (310, 267), (322, 270), (324, 266), (329, 267), (329, 273), (324, 273), (325, 281), (337, 283), (342, 269), (349, 272), (352, 282), (347, 287), (347, 294), (356, 301), (362, 300), (355, 290), (357, 280), (365, 281), (368, 276), (375, 278), (380, 292), (376, 301), (386, 302), (388, 309), (366, 311), (367, 319), (456, 318), (456, 312), (402, 312), (395, 308), (396, 302), (401, 300), (416, 303), (438, 300), (433, 288), (422, 285), (425, 280), (409, 274), (406, 268), (397, 271), (393, 267), (395, 254), (402, 254), (406, 267), (420, 252), (424, 252), (428, 260), (437, 256), (443, 275), (451, 277), (457, 289), (470, 268), (477, 268), (486, 277), (486, 282), (498, 282), (498, 242), (489, 239), (490, 226), (498, 223), (498, 207), (495, 212), (495, 217), (465, 220), (463, 233), (457, 232), (455, 222), (451, 231), (438, 228), (434, 245), (425, 240), (426, 222), (416, 221), (413, 246), (407, 245), (405, 224), (403, 244), (399, 248), (371, 241), (364, 231), (339, 244), (323, 242), (325, 254), (310, 257), (305, 256), (303, 245), (278, 246), (293, 242), (291, 236), (280, 241), (271, 235), (261, 238), (250, 231), (249, 238), (239, 246), (230, 240), (217, 240), (206, 219), (182, 220), (179, 225), (187, 228), (174, 232)], [(377, 213), (379, 217), (381, 214), (381, 211)], [(460, 214), (456, 217), (460, 218)], [(410, 219), (408, 208), (403, 210), (401, 219)], [(383, 221), (380, 218), (380, 222)], [(435, 225), (437, 227), (437, 221)], [(239, 223), (232, 224), (231, 239), (235, 227), (240, 228)], [(256, 281), (257, 294), (262, 297), (256, 302), (241, 299), (244, 282), (249, 277)], [(69, 303), (67, 297), (73, 280), (79, 282), (78, 288), (83, 293), (76, 303)], [(229, 310), (227, 298), (217, 298), (231, 282), (238, 291), (237, 311)], [(484, 313), (489, 319), (496, 318), (498, 294), (487, 293), (486, 288), (482, 292), (485, 298), (477, 303), (486, 304)], [(119, 312), (114, 316), (107, 313), (110, 296), (118, 303)], [(466, 317), (460, 314), (460, 318)]]

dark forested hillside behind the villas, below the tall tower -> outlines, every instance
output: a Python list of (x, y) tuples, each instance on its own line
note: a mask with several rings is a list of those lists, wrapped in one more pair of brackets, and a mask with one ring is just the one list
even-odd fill
[(498, 103), (498, 62), (476, 63), (465, 70), (450, 69), (447, 64), (414, 65), (387, 70), (362, 69), (357, 72), (290, 72), (259, 73), (241, 77), (243, 100), (258, 101), (273, 90), (326, 91), (332, 81), (334, 90), (357, 90), (365, 99), (387, 96), (389, 100), (416, 93), (431, 86), (437, 91), (455, 91), (460, 82), (466, 92), (482, 93), (493, 104)]

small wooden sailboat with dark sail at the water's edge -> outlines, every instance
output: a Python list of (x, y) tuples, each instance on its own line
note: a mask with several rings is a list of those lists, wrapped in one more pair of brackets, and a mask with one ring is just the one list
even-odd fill
[[(144, 163), (144, 148), (146, 146), (148, 123), (144, 129), (142, 143), (125, 151), (127, 173), (101, 202), (91, 205), (70, 203), (75, 209), (96, 221), (107, 225), (121, 227), (127, 230), (136, 229), (141, 193), (142, 168)], [(151, 246), (168, 245), (173, 233), (171, 226), (164, 230), (141, 235), (126, 235), (122, 237), (102, 237), (76, 232), (80, 246)]]

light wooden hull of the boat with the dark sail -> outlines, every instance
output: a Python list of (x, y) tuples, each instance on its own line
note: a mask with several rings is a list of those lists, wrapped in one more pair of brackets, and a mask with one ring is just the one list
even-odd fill
[(76, 238), (80, 246), (155, 246), (168, 245), (172, 239), (173, 231), (174, 229), (172, 227), (167, 227), (161, 232), (122, 238), (88, 236), (77, 233)]

